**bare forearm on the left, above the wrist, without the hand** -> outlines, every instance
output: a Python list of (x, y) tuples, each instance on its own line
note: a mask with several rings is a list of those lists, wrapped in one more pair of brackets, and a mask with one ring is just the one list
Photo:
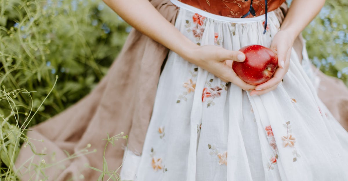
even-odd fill
[(103, 1), (129, 25), (183, 58), (187, 58), (185, 55), (190, 54), (190, 49), (198, 46), (166, 20), (148, 0)]

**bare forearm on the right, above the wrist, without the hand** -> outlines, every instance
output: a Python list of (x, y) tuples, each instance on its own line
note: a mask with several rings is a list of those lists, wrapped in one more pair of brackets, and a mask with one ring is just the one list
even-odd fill
[(280, 30), (291, 32), (293, 40), (324, 6), (325, 0), (293, 0)]

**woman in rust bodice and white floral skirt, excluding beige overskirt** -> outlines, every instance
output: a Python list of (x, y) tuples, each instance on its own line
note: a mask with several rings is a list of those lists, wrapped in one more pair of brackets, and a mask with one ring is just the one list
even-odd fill
[[(292, 50), (323, 0), (294, 0), (281, 26), (271, 10), (284, 1), (269, 2), (265, 18), (267, 1), (171, 0), (180, 7), (175, 27), (147, 1), (105, 2), (171, 50), (134, 167), (136, 180), (348, 178), (348, 134), (323, 111)], [(257, 86), (231, 69), (232, 61), (245, 59), (237, 50), (250, 44), (278, 56), (274, 77)]]

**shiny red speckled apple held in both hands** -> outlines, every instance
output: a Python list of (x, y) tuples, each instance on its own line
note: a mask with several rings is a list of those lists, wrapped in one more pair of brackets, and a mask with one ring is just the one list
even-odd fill
[(262, 84), (276, 71), (278, 58), (271, 49), (261, 45), (248, 45), (239, 51), (245, 54), (245, 60), (244, 62), (233, 61), (232, 68), (246, 83)]

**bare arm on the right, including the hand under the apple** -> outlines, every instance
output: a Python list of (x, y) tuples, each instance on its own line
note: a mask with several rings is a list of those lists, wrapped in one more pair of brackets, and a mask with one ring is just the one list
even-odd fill
[(277, 52), (278, 68), (274, 77), (256, 86), (251, 95), (261, 95), (277, 88), (289, 69), (292, 45), (296, 37), (310, 23), (324, 6), (325, 0), (293, 0), (287, 15), (274, 36), (271, 49)]

